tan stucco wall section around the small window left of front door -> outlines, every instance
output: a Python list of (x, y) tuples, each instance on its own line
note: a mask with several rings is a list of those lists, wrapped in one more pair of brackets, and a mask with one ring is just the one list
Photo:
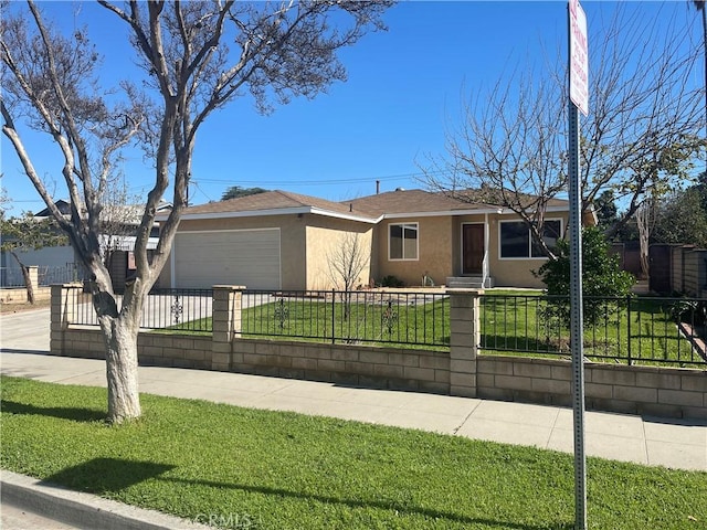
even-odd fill
[[(390, 259), (389, 256), (389, 226), (391, 224), (416, 223), (418, 224), (418, 258), (416, 259)], [(436, 285), (444, 284), (447, 276), (452, 275), (453, 252), (453, 218), (404, 218), (386, 220), (377, 227), (376, 247), (378, 253), (379, 282), (389, 275), (403, 280), (405, 285), (422, 285), (423, 275), (428, 274)]]

